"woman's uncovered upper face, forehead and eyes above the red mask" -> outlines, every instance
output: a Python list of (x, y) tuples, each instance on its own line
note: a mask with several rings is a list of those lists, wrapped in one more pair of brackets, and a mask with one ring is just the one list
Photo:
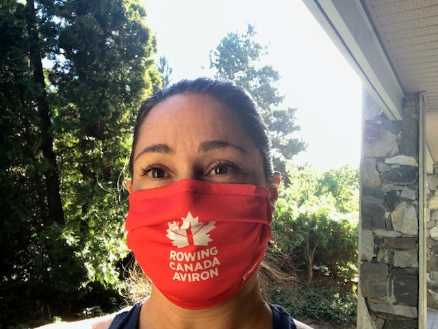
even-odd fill
[(129, 190), (181, 179), (268, 187), (259, 149), (240, 119), (211, 96), (171, 96), (140, 127)]

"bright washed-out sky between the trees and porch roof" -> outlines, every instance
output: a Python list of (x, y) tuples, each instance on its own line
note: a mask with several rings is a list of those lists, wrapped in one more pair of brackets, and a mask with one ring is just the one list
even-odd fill
[(294, 157), (320, 170), (358, 167), (361, 81), (300, 0), (145, 0), (147, 23), (172, 79), (211, 75), (209, 51), (228, 31), (257, 29), (265, 60), (279, 70), (284, 107), (298, 107), (296, 135), (309, 145)]

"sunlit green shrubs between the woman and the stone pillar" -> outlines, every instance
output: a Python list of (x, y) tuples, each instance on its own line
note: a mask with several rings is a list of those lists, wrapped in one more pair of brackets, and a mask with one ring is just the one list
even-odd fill
[(309, 167), (289, 168), (291, 183), (279, 192), (272, 228), (276, 248), (305, 267), (310, 282), (313, 265), (329, 267), (333, 277), (351, 280), (357, 274), (352, 266), (358, 240), (356, 172), (348, 166), (322, 174)]

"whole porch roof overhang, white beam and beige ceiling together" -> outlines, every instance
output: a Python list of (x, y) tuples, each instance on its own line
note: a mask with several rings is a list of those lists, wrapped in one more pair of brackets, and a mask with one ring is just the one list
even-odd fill
[(438, 0), (302, 0), (391, 119), (423, 92), (428, 161), (438, 167)]

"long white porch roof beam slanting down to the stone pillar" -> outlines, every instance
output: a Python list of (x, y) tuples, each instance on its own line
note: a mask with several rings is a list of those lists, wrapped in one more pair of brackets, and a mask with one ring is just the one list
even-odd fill
[(385, 114), (400, 120), (404, 92), (359, 0), (303, 1)]

